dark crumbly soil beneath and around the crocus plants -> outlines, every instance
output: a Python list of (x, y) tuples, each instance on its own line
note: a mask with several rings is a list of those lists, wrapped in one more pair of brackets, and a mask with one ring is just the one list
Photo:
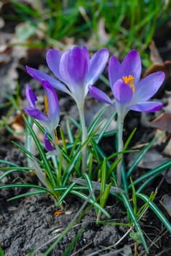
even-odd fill
[[(162, 54), (165, 58), (164, 60), (171, 59), (171, 48), (166, 47), (165, 45), (164, 47), (165, 50)], [(35, 53), (37, 54), (36, 57)], [(30, 58), (28, 58), (28, 56), (30, 56)], [(8, 71), (11, 70), (13, 67), (12, 64), (14, 64), (15, 61), (14, 59), (10, 59), (7, 64), (8, 67), (4, 67), (4, 65), (1, 66), (1, 70), (3, 69), (2, 73), (4, 73), (4, 70), (6, 69)], [(36, 94), (41, 94), (41, 86), (39, 83), (31, 80), (25, 72), (25, 64), (33, 67), (32, 63), (35, 67), (39, 67), (41, 70), (48, 70), (44, 65), (44, 50), (29, 51), (27, 58), (17, 59), (15, 72), (17, 72), (17, 80), (19, 80), (20, 83), (21, 108), (26, 104), (24, 95), (25, 83), (30, 81), (30, 85), (36, 90)], [(4, 73), (5, 76), (8, 74), (9, 72)], [(5, 90), (6, 89), (7, 88), (5, 88)], [(165, 94), (165, 91), (170, 91), (170, 79), (167, 80), (167, 83), (164, 85), (164, 89), (156, 95), (158, 99), (162, 99), (164, 105), (167, 105), (168, 94)], [(7, 89), (5, 93), (9, 93), (9, 89)], [(78, 116), (76, 116), (76, 106), (71, 98), (60, 93), (57, 95), (60, 98), (60, 111), (62, 113), (60, 124), (64, 127), (66, 114), (68, 116), (78, 118)], [(4, 102), (5, 99), (2, 97), (1, 101)], [(91, 99), (88, 99), (87, 116), (90, 116), (87, 123), (89, 123), (92, 118), (92, 106), (94, 106), (93, 110), (95, 110), (95, 101), (92, 102)], [(5, 116), (6, 114), (7, 109), (1, 110), (1, 116)], [(17, 115), (17, 112), (15, 114)], [(152, 138), (154, 138), (156, 129), (148, 126), (149, 121), (154, 117), (155, 114), (148, 114), (144, 116), (141, 113), (129, 113), (125, 121), (125, 138), (127, 138), (134, 127), (138, 127), (138, 132), (135, 134), (135, 138), (132, 141), (131, 146), (148, 143)], [(15, 116), (13, 116), (13, 118), (15, 118)], [(14, 162), (20, 166), (26, 166), (25, 157), (19, 149), (12, 145), (12, 140), (17, 139), (14, 138), (7, 129), (1, 129), (0, 159)], [(113, 141), (114, 138), (105, 138), (101, 143), (107, 154), (111, 154), (111, 152), (114, 151), (111, 140)], [(19, 140), (19, 143), (22, 142)], [(154, 146), (154, 149), (162, 155), (164, 143)], [(130, 164), (130, 155), (125, 159), (125, 162), (127, 165)], [(149, 164), (151, 164), (151, 162), (148, 162), (148, 165)], [(140, 173), (144, 172), (146, 172), (146, 168), (144, 166), (139, 166), (134, 175), (138, 176)], [(0, 170), (0, 175), (1, 173), (2, 171)], [(3, 178), (0, 181), (0, 184), (10, 184), (15, 181), (39, 184), (36, 176), (31, 175), (31, 173), (19, 172), (12, 173), (6, 178)], [(170, 183), (167, 182), (164, 175), (160, 175), (146, 188), (145, 193), (149, 195), (150, 192), (156, 190), (156, 187), (158, 187), (158, 194), (155, 198), (155, 203), (159, 206), (164, 215), (170, 219), (170, 215), (160, 203), (160, 200), (162, 200), (164, 195), (170, 194)], [(22, 197), (20, 200), (7, 201), (10, 197), (20, 195), (24, 192), (28, 192), (28, 189), (12, 188), (0, 190), (0, 246), (4, 250), (6, 256), (43, 255), (49, 246), (57, 240), (63, 230), (65, 230), (65, 227), (68, 227), (76, 216), (76, 212), (79, 211), (84, 203), (79, 200), (78, 197), (70, 195), (65, 201), (63, 210), (57, 214), (58, 208), (55, 206), (54, 200), (45, 194)], [(132, 238), (130, 238), (129, 232), (127, 232), (129, 227), (124, 225), (116, 226), (103, 224), (103, 222), (107, 221), (127, 222), (127, 213), (118, 201), (114, 200), (112, 197), (108, 199), (106, 210), (111, 214), (111, 219), (108, 220), (102, 216), (102, 222), (98, 225), (96, 224), (95, 210), (88, 207), (89, 205), (84, 208), (85, 211), (87, 210), (84, 217), (79, 220), (77, 219), (77, 222), (64, 236), (63, 240), (60, 241), (60, 243), (52, 249), (52, 252), (49, 253), (50, 256), (146, 255), (143, 246), (141, 246), (141, 244), (137, 244), (132, 240)], [(145, 216), (140, 219), (140, 225), (146, 236), (146, 241), (150, 251), (149, 255), (170, 256), (171, 235), (150, 209), (148, 209)], [(71, 242), (78, 234), (80, 234), (80, 236), (76, 240), (76, 243), (70, 248), (70, 253), (65, 254), (65, 250), (71, 245)], [(2, 255), (1, 251), (0, 255)]]

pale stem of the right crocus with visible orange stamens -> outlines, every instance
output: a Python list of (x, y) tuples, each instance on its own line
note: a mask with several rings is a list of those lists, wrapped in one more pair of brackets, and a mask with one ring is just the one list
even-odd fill
[[(123, 125), (124, 118), (122, 116), (118, 116), (117, 126), (118, 126), (118, 152), (123, 151)], [(123, 155), (122, 155), (123, 157)], [(117, 165), (117, 186), (122, 186), (122, 159)]]

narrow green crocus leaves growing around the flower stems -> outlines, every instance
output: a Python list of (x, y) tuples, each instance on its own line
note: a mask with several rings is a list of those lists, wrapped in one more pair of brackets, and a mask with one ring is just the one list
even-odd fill
[[(129, 225), (130, 227), (135, 228), (135, 232), (130, 233), (132, 239), (138, 243), (143, 244), (143, 247), (146, 249), (148, 253), (148, 246), (146, 244), (146, 239), (143, 235), (143, 230), (141, 230), (139, 219), (143, 217), (147, 208), (151, 208), (154, 211), (154, 214), (160, 219), (163, 225), (170, 231), (170, 223), (167, 218), (164, 217), (162, 211), (156, 206), (153, 202), (156, 193), (151, 193), (151, 195), (144, 195), (142, 193), (143, 189), (146, 187), (148, 182), (156, 178), (162, 171), (166, 170), (171, 166), (171, 161), (168, 161), (159, 167), (154, 168), (154, 170), (149, 170), (142, 176), (136, 178), (134, 181), (131, 178), (132, 171), (135, 170), (136, 165), (140, 159), (142, 159), (145, 152), (153, 145), (155, 140), (152, 140), (148, 145), (139, 152), (138, 157), (135, 159), (135, 162), (132, 164), (132, 167), (127, 172), (127, 176), (124, 177), (124, 190), (119, 189), (116, 186), (116, 167), (119, 161), (122, 159), (119, 157), (119, 154), (127, 154), (133, 151), (126, 150), (129, 146), (129, 143), (135, 134), (135, 129), (130, 133), (129, 138), (127, 139), (124, 145), (123, 152), (115, 152), (110, 156), (106, 157), (106, 154), (103, 152), (103, 149), (100, 147), (99, 142), (106, 136), (106, 129), (110, 124), (110, 121), (106, 121), (103, 127), (103, 136), (98, 136), (97, 132), (101, 124), (98, 124), (100, 117), (103, 116), (107, 108), (101, 111), (99, 115), (95, 118), (88, 129), (88, 139), (85, 141), (88, 147), (88, 158), (87, 158), (87, 173), (81, 173), (81, 148), (84, 146), (81, 145), (81, 133), (79, 132), (76, 139), (73, 139), (72, 131), (70, 128), (69, 122), (72, 121), (76, 127), (79, 127), (79, 124), (76, 121), (73, 121), (72, 118), (67, 119), (67, 131), (69, 143), (65, 143), (65, 135), (63, 134), (63, 130), (60, 128), (60, 135), (63, 141), (63, 146), (60, 146), (60, 155), (55, 157), (54, 154), (46, 154), (44, 153), (44, 147), (40, 143), (35, 130), (33, 129), (33, 124), (36, 125), (41, 132), (44, 132), (44, 128), (40, 126), (40, 124), (36, 120), (32, 120), (31, 118), (25, 118), (25, 124), (27, 126), (27, 142), (33, 140), (36, 144), (36, 150), (39, 151), (39, 157), (35, 157), (33, 154), (33, 148), (30, 148), (33, 144), (27, 143), (26, 149), (22, 146), (15, 143), (15, 146), (18, 146), (21, 151), (28, 157), (28, 167), (20, 167), (15, 163), (7, 162), (4, 160), (0, 160), (0, 163), (6, 165), (6, 167), (1, 167), (1, 170), (4, 172), (0, 176), (0, 181), (5, 176), (9, 176), (13, 172), (35, 172), (36, 176), (41, 181), (41, 186), (37, 186), (35, 184), (25, 184), (25, 181), (20, 184), (4, 184), (0, 185), (0, 189), (10, 188), (10, 187), (25, 187), (32, 188), (31, 192), (25, 192), (23, 195), (17, 195), (15, 197), (10, 198), (9, 200), (14, 200), (20, 197), (35, 195), (39, 193), (49, 193), (52, 197), (55, 198), (56, 205), (63, 208), (63, 200), (70, 193), (76, 195), (77, 197), (81, 197), (86, 203), (90, 203), (92, 207), (95, 208), (95, 212), (97, 214), (97, 223), (100, 222), (101, 214), (104, 214), (108, 219), (110, 219), (110, 215), (106, 211), (106, 204), (108, 203), (108, 197), (116, 197), (121, 203), (123, 203), (125, 210), (127, 211), (127, 223), (123, 225)], [(111, 118), (110, 118), (111, 120)], [(107, 125), (108, 124), (108, 125)], [(116, 133), (116, 131), (115, 131)], [(114, 133), (114, 134), (115, 134)], [(30, 138), (30, 139), (29, 139)], [(136, 165), (135, 165), (136, 164)], [(92, 172), (93, 170), (93, 172)], [(124, 170), (124, 166), (122, 167), (122, 171), (126, 173)], [(138, 186), (142, 181), (145, 182)], [(96, 181), (96, 182), (95, 182)], [(34, 189), (34, 190), (33, 190)], [(139, 198), (143, 200), (143, 205), (138, 208), (138, 200)], [(80, 212), (80, 214), (82, 214)], [(74, 222), (75, 223), (75, 222)], [(65, 233), (70, 230), (74, 223), (68, 227), (67, 230), (64, 230), (63, 236)], [(110, 225), (119, 225), (119, 223), (111, 222)], [(80, 230), (78, 233), (78, 238), (81, 235), (83, 230)], [(57, 239), (57, 243), (63, 239), (63, 236), (60, 236)], [(71, 247), (76, 243), (76, 239), (73, 239), (71, 243)], [(56, 244), (56, 243), (55, 243)], [(69, 247), (69, 248), (71, 248)], [(66, 255), (68, 253), (67, 249), (65, 251)], [(49, 253), (50, 249), (47, 250)], [(44, 255), (47, 255), (46, 252)]]

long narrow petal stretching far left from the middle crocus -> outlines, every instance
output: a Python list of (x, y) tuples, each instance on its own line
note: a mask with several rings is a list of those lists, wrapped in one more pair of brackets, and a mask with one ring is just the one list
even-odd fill
[(60, 83), (55, 78), (52, 78), (50, 75), (47, 75), (38, 69), (33, 69), (32, 67), (28, 66), (26, 66), (26, 70), (32, 78), (38, 80), (39, 82), (41, 82), (42, 80), (47, 80), (56, 89), (70, 94), (70, 91), (63, 85), (63, 83)]

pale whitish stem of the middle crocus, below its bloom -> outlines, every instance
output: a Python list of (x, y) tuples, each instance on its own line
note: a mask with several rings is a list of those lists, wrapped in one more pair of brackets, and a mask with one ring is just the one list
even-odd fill
[[(83, 144), (87, 140), (87, 127), (85, 124), (85, 116), (84, 116), (84, 104), (77, 104), (79, 108), (79, 118), (81, 121), (81, 128), (82, 128), (82, 138), (81, 143)], [(82, 173), (85, 172), (87, 167), (87, 145), (85, 145), (81, 150), (81, 171)]]

